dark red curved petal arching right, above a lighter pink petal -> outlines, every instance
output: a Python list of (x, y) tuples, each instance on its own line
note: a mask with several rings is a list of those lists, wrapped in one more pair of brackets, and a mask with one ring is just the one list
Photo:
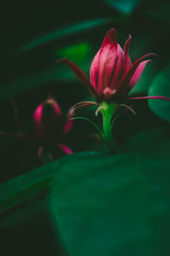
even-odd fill
[(137, 61), (134, 61), (132, 67), (130, 67), (130, 69), (127, 71), (127, 73), (125, 73), (123, 75), (121, 81), (117, 85), (117, 89), (118, 89), (117, 95), (119, 94), (119, 96), (122, 96), (122, 97), (127, 95), (127, 91), (129, 91), (128, 87), (129, 87), (130, 81), (131, 81), (133, 74), (135, 73), (137, 67), (139, 67), (139, 63), (142, 62), (149, 55), (155, 55), (155, 54), (150, 53), (147, 55), (143, 55)]

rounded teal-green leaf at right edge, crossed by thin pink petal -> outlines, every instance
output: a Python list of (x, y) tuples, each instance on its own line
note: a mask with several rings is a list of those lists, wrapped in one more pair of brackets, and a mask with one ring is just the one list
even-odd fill
[[(149, 96), (170, 97), (170, 66), (162, 70), (153, 80)], [(170, 121), (170, 102), (164, 100), (149, 100), (150, 109), (162, 119)]]

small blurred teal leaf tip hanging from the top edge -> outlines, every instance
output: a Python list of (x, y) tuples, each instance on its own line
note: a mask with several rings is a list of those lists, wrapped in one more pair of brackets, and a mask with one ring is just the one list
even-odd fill
[(128, 15), (133, 12), (140, 0), (106, 0), (106, 2), (123, 14)]

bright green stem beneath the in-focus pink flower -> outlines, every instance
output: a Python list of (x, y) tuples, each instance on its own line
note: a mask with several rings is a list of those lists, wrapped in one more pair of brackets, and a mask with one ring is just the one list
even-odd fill
[(101, 103), (100, 112), (103, 116), (103, 138), (108, 148), (114, 153), (117, 151), (116, 143), (112, 136), (112, 119), (116, 112), (116, 104), (107, 104), (106, 102)]

